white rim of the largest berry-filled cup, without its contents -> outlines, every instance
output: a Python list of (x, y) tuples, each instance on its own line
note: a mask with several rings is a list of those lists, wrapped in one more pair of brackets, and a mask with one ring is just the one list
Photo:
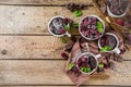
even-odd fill
[(81, 34), (82, 37), (84, 37), (84, 38), (87, 39), (87, 40), (96, 40), (96, 39), (98, 39), (99, 37), (102, 37), (102, 36), (104, 35), (104, 33), (103, 33), (99, 37), (92, 39), (92, 38), (85, 37), (85, 36), (82, 34), (82, 32), (81, 32), (81, 24), (82, 24), (83, 20), (85, 20), (85, 18), (88, 17), (88, 16), (93, 16), (93, 17), (96, 17), (97, 20), (99, 20), (99, 22), (102, 22), (102, 24), (103, 24), (103, 29), (104, 29), (104, 33), (105, 33), (105, 23), (104, 23), (104, 21), (103, 21), (100, 17), (98, 17), (97, 15), (87, 15), (87, 16), (83, 17), (83, 18), (80, 21), (80, 23), (79, 23), (79, 33)]

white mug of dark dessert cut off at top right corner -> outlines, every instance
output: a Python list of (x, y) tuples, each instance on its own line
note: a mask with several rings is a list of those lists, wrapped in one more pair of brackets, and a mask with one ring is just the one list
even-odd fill
[(130, 2), (128, 0), (108, 0), (107, 13), (111, 17), (122, 17), (127, 14)]

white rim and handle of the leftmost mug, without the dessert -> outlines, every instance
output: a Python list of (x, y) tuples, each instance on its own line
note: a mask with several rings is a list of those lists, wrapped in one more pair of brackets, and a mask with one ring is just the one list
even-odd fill
[[(69, 37), (71, 37), (71, 35), (68, 33), (68, 32), (66, 32), (64, 34), (61, 34), (61, 35), (57, 35), (57, 34), (55, 34), (55, 33), (52, 33), (51, 30), (50, 30), (50, 23), (55, 20), (55, 18), (64, 18), (63, 16), (55, 16), (55, 17), (52, 17), (49, 22), (48, 22), (48, 30), (49, 30), (49, 33), (51, 34), (51, 35), (53, 35), (53, 36), (56, 36), (56, 37), (62, 37), (62, 36), (69, 36)], [(59, 25), (58, 25), (59, 26)], [(70, 25), (69, 25), (70, 26)]]

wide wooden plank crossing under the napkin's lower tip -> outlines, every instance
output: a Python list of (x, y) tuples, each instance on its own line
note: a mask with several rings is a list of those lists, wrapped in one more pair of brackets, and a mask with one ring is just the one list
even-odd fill
[[(64, 74), (66, 61), (1, 60), (0, 85), (73, 85)], [(117, 63), (117, 72), (94, 74), (84, 85), (131, 85), (131, 61)]]

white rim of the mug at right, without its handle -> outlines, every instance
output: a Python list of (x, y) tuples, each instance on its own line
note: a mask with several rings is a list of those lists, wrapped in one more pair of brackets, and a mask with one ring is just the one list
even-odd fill
[[(119, 39), (118, 39), (118, 37), (117, 37), (115, 34), (112, 34), (112, 33), (105, 33), (105, 35), (114, 36), (114, 37), (116, 38), (116, 40), (117, 40), (117, 46), (116, 46), (112, 50), (110, 50), (110, 51), (105, 51), (105, 52), (112, 52), (112, 51), (115, 51), (115, 50), (119, 47)], [(98, 39), (98, 48), (99, 48), (99, 49), (102, 49), (100, 39), (102, 39), (102, 38)]]

